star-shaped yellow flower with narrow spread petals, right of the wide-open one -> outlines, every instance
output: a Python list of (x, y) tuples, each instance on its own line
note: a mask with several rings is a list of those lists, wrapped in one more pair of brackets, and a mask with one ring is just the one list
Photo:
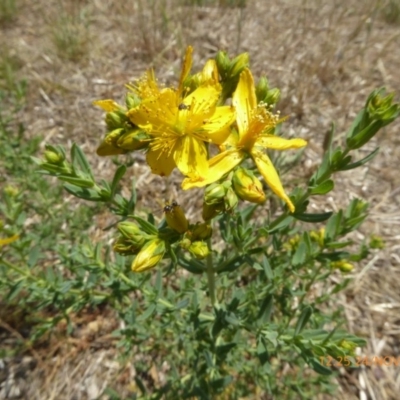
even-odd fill
[(275, 126), (282, 120), (269, 112), (265, 105), (257, 104), (254, 80), (249, 69), (240, 74), (232, 104), (236, 109), (237, 132), (229, 136), (224, 144), (225, 150), (209, 160), (207, 174), (186, 178), (182, 188), (186, 190), (215, 182), (250, 155), (271, 190), (294, 212), (294, 205), (285, 193), (275, 167), (262, 150), (296, 149), (307, 142), (303, 139), (283, 139), (273, 134)]

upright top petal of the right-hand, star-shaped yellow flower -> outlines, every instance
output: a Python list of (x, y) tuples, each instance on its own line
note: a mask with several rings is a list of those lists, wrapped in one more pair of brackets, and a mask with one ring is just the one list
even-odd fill
[(233, 94), (232, 104), (236, 109), (239, 135), (242, 136), (249, 129), (252, 110), (257, 108), (254, 80), (249, 69), (245, 69), (240, 74), (239, 83)]

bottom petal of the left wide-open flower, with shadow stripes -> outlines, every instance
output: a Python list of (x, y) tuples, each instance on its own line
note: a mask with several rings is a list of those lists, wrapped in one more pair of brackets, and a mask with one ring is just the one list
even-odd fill
[(208, 170), (205, 144), (190, 135), (182, 136), (176, 143), (174, 160), (183, 175), (204, 176)]

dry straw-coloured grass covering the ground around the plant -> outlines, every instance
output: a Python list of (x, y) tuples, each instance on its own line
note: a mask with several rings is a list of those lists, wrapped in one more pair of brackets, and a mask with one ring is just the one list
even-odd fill
[[(248, 0), (244, 8), (222, 7), (224, 2), (218, 6), (216, 1), (204, 7), (193, 3), (19, 1), (13, 23), (1, 25), (0, 48), (7, 47), (9, 56), (18, 58), (21, 75), (29, 82), (23, 115), (27, 134), (42, 134), (44, 142), (66, 146), (76, 141), (92, 151), (104, 133), (102, 113), (91, 105), (94, 99), (122, 98), (124, 83), (138, 78), (150, 65), (160, 80), (176, 79), (188, 44), (195, 48), (197, 66), (219, 49), (231, 55), (247, 51), (254, 74), (267, 74), (271, 84), (282, 89), (280, 109), (290, 115), (288, 133), (309, 140), (299, 173), (306, 176), (320, 159), (332, 120), (340, 138), (371, 90), (386, 86), (399, 93), (398, 1)], [(66, 12), (86, 13), (85, 29), (78, 25), (73, 31), (74, 40), (82, 43), (78, 57), (63, 57), (60, 49), (68, 42), (61, 45), (54, 39), (55, 32), (60, 33), (55, 31), (55, 21)], [(369, 338), (363, 350), (369, 357), (400, 355), (400, 175), (395, 171), (400, 159), (399, 129), (397, 122), (381, 132), (370, 146), (381, 147), (374, 161), (339, 175), (330, 197), (312, 205), (337, 210), (353, 197), (367, 199), (371, 213), (357, 239), (361, 242), (374, 233), (385, 240), (386, 248), (354, 272), (354, 283), (341, 299), (350, 331)], [(112, 170), (108, 159), (90, 161), (99, 174)], [(159, 206), (154, 199), (178, 190), (150, 177), (140, 157), (132, 174), (140, 176), (142, 206), (155, 212)], [(179, 192), (178, 196), (189, 210), (196, 209), (196, 201), (188, 195)], [(32, 353), (39, 360), (29, 385), (28, 378), (15, 378), (21, 385), (25, 382), (26, 398), (95, 399), (107, 382), (129, 393), (134, 370), (115, 362), (112, 327), (104, 325), (104, 316), (90, 318), (89, 333), (76, 334), (74, 340), (61, 336)], [(398, 367), (343, 371), (341, 398), (396, 399), (399, 371)]]

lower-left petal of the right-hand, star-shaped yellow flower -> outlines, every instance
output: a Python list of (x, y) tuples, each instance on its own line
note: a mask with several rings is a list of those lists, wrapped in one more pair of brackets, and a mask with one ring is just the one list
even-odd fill
[(213, 157), (208, 162), (208, 171), (204, 176), (193, 176), (183, 180), (182, 189), (188, 190), (194, 187), (203, 187), (220, 180), (224, 175), (232, 171), (244, 159), (244, 153), (231, 149)]

